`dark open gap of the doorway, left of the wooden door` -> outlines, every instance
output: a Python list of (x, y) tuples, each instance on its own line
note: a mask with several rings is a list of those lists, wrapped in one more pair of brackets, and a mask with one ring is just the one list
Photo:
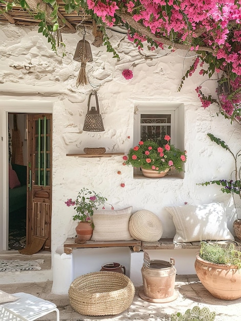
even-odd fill
[(9, 225), (8, 249), (26, 247), (27, 225), (27, 114), (8, 114)]

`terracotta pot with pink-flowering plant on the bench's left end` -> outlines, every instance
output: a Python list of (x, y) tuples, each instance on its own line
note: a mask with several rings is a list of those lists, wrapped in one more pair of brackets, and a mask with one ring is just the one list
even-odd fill
[[(89, 189), (83, 187), (75, 200), (72, 198), (67, 199), (64, 202), (68, 207), (74, 206), (77, 214), (73, 215), (73, 220), (78, 220), (79, 224), (76, 227), (76, 233), (79, 242), (86, 242), (86, 240), (91, 239), (94, 224), (92, 222), (91, 216), (94, 214), (94, 210), (100, 205), (108, 204), (107, 198), (102, 196), (100, 193), (90, 191)], [(111, 205), (112, 210), (114, 207)]]

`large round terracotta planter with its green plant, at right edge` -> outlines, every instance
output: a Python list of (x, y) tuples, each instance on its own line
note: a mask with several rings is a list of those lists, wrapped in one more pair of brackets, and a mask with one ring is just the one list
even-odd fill
[(194, 266), (201, 283), (214, 297), (222, 300), (241, 297), (241, 252), (234, 243), (201, 242)]

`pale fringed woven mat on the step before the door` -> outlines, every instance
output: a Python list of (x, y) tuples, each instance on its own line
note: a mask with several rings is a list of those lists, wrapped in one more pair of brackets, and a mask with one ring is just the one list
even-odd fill
[(44, 259), (35, 259), (32, 261), (1, 259), (0, 272), (41, 270), (39, 264), (42, 264), (43, 262), (45, 262)]

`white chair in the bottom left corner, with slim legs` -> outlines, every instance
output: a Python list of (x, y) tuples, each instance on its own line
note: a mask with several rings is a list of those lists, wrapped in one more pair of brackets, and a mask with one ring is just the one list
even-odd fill
[(0, 321), (33, 321), (53, 311), (59, 321), (59, 310), (54, 303), (23, 292), (13, 295), (19, 299), (0, 305)]

